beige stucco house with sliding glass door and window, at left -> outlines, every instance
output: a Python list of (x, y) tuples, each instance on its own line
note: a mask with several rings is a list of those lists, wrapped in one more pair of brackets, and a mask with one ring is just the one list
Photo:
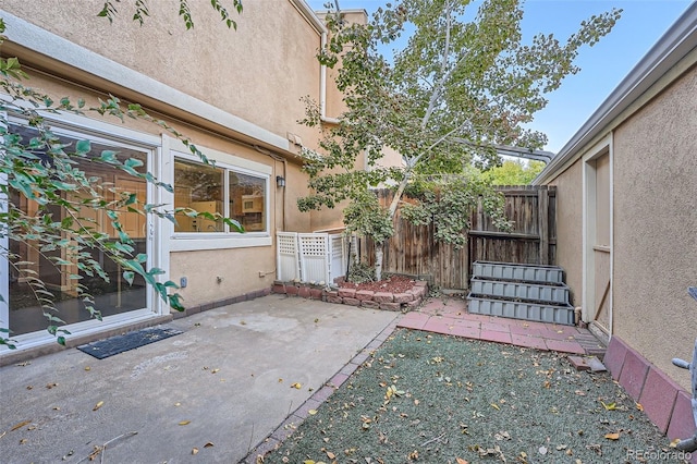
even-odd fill
[[(98, 0), (4, 0), (2, 56), (19, 57), (30, 75), (26, 84), (56, 99), (83, 97), (89, 106), (113, 95), (138, 102), (216, 161), (215, 167), (201, 163), (180, 141), (146, 122), (47, 115), (66, 142), (89, 138), (95, 147), (138, 158), (174, 192), (88, 168), (105, 184), (137, 192), (145, 203), (220, 212), (245, 227), (240, 234), (186, 217), (176, 225), (155, 217), (124, 219), (138, 252), (147, 252), (148, 267), (163, 269), (162, 280), (185, 284), (180, 293), (187, 312), (268, 293), (276, 277), (277, 231), (342, 225), (337, 211), (301, 213), (296, 207), (296, 198), (307, 193), (299, 154), (317, 148), (318, 141), (316, 129), (298, 123), (305, 115), (301, 98), (319, 102), (327, 123), (341, 111), (341, 96), (316, 59), (327, 37), (322, 22), (304, 0), (245, 2), (239, 17), (233, 13), (236, 30), (225, 27), (207, 2), (189, 2), (191, 30), (171, 2), (148, 2), (143, 26), (132, 21), (127, 2), (113, 24), (97, 16), (102, 5)], [(347, 14), (350, 21), (365, 21), (363, 11)], [(25, 121), (11, 121), (30, 136), (22, 129)], [(95, 220), (109, 231), (103, 218)], [(71, 303), (70, 281), (51, 273), (30, 251), (4, 245), (34, 260), (35, 271), (65, 296), (59, 306), (73, 333), (69, 343), (171, 317), (150, 289), (137, 282), (127, 286), (119, 269), (108, 269), (112, 284), (95, 292), (105, 320), (89, 319)], [(40, 310), (22, 297), (21, 276), (7, 261), (0, 264), (0, 323), (13, 331), (20, 351), (54, 346)], [(0, 346), (0, 361), (11, 353)]]

